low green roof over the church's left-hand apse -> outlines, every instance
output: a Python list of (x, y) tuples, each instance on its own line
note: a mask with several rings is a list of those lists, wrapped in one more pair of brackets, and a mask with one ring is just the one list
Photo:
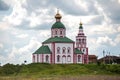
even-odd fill
[(41, 46), (33, 54), (50, 54), (50, 53), (51, 53), (51, 51), (48, 46)]

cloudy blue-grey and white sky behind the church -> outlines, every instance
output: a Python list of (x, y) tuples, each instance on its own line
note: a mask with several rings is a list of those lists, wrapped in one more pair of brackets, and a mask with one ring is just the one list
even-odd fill
[(89, 54), (120, 55), (120, 0), (0, 0), (0, 63), (31, 63), (51, 36), (57, 9), (70, 39), (83, 23)]

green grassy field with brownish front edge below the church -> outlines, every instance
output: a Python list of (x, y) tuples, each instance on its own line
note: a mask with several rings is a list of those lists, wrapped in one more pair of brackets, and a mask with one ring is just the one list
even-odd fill
[[(120, 79), (120, 65), (97, 64), (6, 64), (0, 67), (0, 80), (108, 80)], [(101, 78), (101, 79), (100, 79)], [(114, 78), (114, 79), (113, 79)], [(87, 80), (86, 79), (86, 80)], [(103, 79), (103, 80), (107, 80)], [(118, 79), (118, 80), (119, 80)]]

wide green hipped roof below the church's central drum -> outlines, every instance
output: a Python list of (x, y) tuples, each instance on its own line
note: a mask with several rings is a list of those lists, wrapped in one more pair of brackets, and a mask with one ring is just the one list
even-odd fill
[(60, 43), (73, 43), (74, 41), (72, 41), (71, 39), (67, 38), (67, 37), (51, 37), (49, 39), (47, 39), (46, 41), (44, 41), (43, 43), (51, 43), (51, 42), (60, 42)]

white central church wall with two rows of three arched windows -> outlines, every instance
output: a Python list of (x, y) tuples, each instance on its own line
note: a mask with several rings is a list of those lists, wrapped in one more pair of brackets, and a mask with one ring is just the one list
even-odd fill
[[(60, 47), (60, 53), (58, 54), (57, 53), (57, 48)], [(63, 47), (66, 48), (65, 50), (65, 53), (63, 54)], [(70, 53), (67, 53), (67, 49), (68, 47), (70, 47)], [(57, 62), (57, 56), (60, 55), (60, 62)], [(66, 59), (64, 58), (64, 61), (63, 61), (63, 58), (62, 56), (65, 55), (66, 56)], [(67, 60), (67, 56), (70, 55), (71, 56), (71, 61), (68, 61)], [(55, 43), (55, 63), (73, 63), (73, 43)]]

